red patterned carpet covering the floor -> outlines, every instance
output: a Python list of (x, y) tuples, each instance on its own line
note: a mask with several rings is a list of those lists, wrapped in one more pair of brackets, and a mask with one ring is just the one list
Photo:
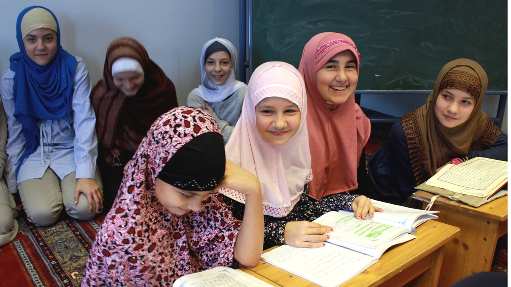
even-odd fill
[[(364, 112), (369, 113), (364, 110)], [(366, 159), (387, 140), (391, 124), (374, 124), (366, 146)], [(17, 199), (19, 202), (19, 198)], [(18, 209), (19, 233), (0, 248), (0, 286), (79, 286), (88, 252), (105, 218), (71, 219), (62, 212), (49, 227), (37, 227)], [(507, 273), (507, 235), (497, 244), (492, 271)]]

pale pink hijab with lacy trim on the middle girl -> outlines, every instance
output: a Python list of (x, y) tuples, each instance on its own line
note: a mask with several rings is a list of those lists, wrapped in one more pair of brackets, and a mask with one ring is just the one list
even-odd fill
[[(255, 106), (268, 97), (288, 99), (301, 111), (300, 128), (281, 147), (266, 141), (255, 123)], [(254, 70), (240, 118), (225, 145), (225, 157), (259, 179), (264, 214), (284, 217), (293, 210), (311, 172), (307, 95), (304, 80), (295, 67), (284, 62), (267, 62)], [(234, 190), (222, 190), (221, 193), (245, 202), (244, 195)]]

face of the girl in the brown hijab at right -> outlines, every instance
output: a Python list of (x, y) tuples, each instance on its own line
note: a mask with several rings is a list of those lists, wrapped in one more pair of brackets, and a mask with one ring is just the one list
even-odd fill
[(457, 127), (467, 121), (475, 106), (468, 92), (459, 89), (443, 89), (436, 98), (435, 115), (447, 128)]

